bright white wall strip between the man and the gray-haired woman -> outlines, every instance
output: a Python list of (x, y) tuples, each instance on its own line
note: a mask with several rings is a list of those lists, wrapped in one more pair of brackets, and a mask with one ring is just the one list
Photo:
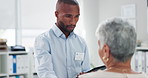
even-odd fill
[(97, 39), (95, 37), (95, 30), (99, 23), (98, 9), (98, 0), (85, 0), (83, 2), (83, 25), (86, 31), (86, 42), (91, 55), (90, 60), (94, 66), (101, 65), (101, 61), (98, 60), (98, 46)]

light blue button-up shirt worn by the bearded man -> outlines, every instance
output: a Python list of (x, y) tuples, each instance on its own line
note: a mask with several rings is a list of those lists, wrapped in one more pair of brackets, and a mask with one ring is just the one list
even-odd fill
[(34, 57), (39, 78), (76, 78), (90, 69), (85, 41), (74, 32), (66, 38), (56, 25), (36, 38)]

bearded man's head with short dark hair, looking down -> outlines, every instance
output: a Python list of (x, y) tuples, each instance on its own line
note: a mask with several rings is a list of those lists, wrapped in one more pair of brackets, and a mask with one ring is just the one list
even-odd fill
[(76, 0), (58, 0), (55, 11), (56, 24), (64, 34), (74, 30), (79, 15), (79, 4)]

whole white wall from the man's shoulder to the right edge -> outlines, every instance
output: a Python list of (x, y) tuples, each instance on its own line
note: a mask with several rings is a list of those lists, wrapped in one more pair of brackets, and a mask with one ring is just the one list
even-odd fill
[(121, 16), (121, 6), (136, 5), (136, 25), (138, 40), (148, 40), (147, 31), (147, 0), (85, 0), (83, 1), (83, 23), (86, 30), (86, 41), (94, 66), (102, 65), (98, 56), (98, 45), (95, 30), (98, 24), (114, 16)]

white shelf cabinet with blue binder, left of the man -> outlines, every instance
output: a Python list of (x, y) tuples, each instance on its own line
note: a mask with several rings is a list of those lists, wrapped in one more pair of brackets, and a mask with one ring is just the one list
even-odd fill
[(0, 52), (0, 78), (31, 78), (29, 53)]

